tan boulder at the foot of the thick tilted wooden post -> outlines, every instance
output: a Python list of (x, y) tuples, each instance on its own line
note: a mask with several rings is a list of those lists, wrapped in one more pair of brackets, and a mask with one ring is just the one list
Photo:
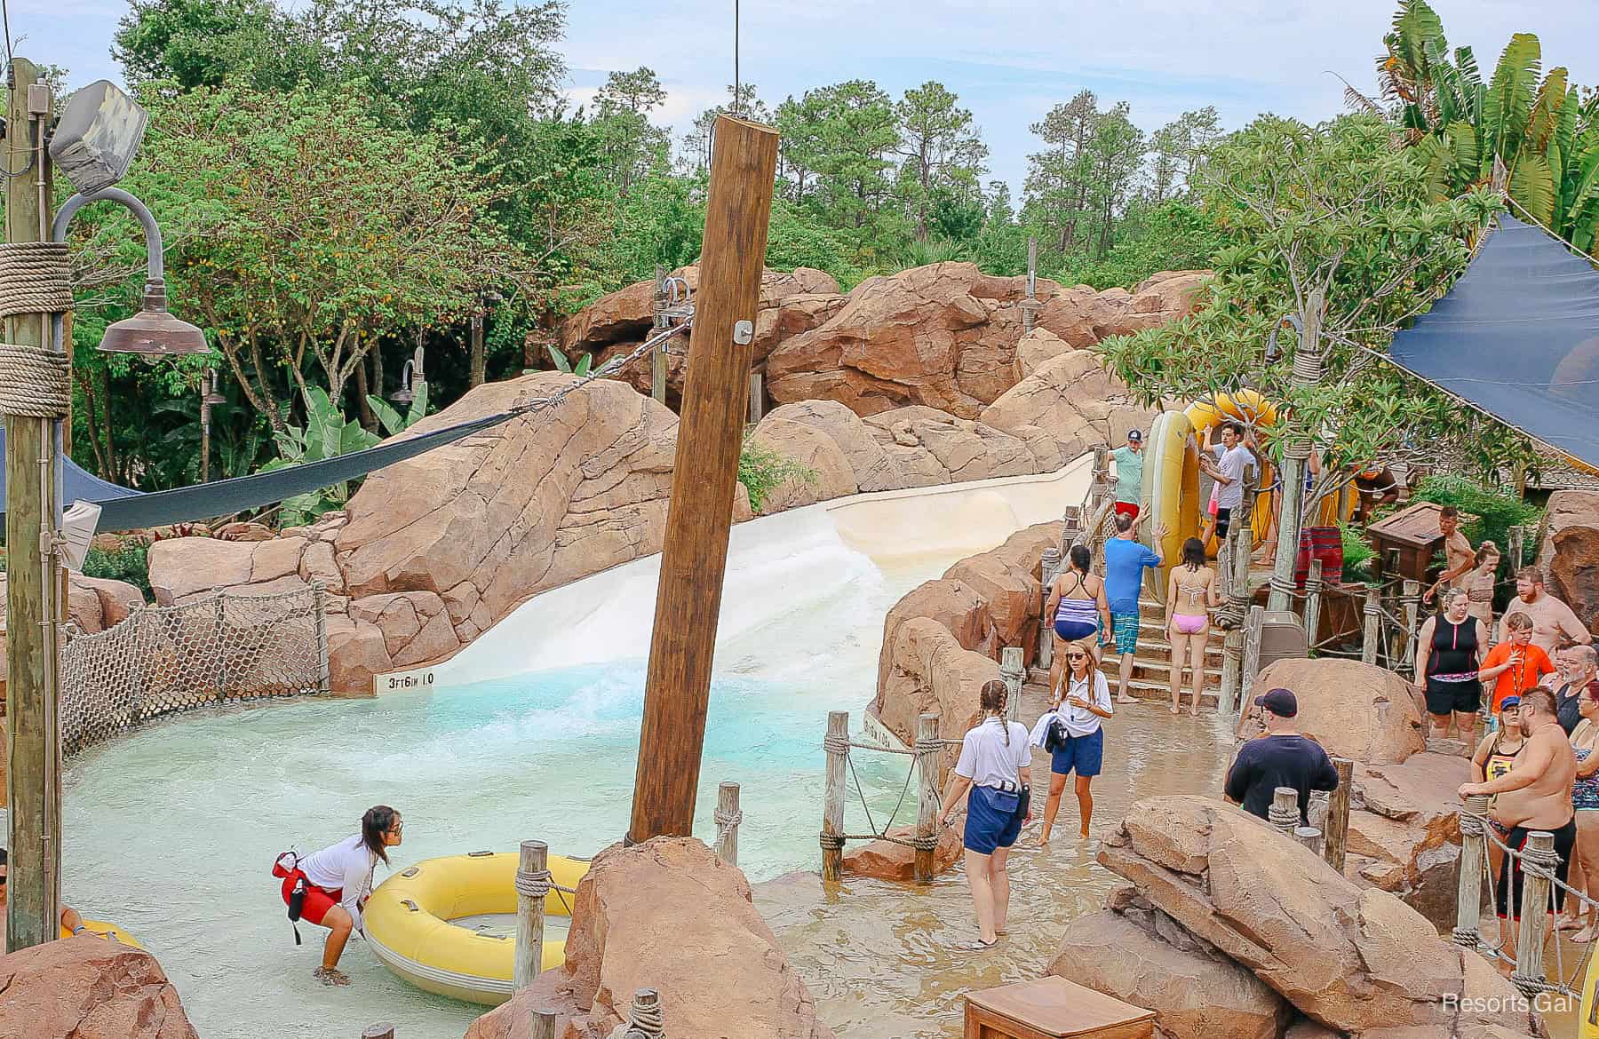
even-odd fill
[(556, 1009), (561, 1039), (606, 1039), (654, 988), (668, 1036), (831, 1039), (755, 911), (737, 866), (692, 838), (612, 846), (577, 886), (566, 964), (480, 1017), (467, 1039), (526, 1039)]

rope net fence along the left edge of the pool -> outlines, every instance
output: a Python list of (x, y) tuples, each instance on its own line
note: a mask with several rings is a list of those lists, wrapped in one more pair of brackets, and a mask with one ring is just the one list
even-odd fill
[(328, 689), (326, 595), (216, 593), (136, 609), (61, 651), (61, 750), (74, 754), (144, 721), (240, 700)]

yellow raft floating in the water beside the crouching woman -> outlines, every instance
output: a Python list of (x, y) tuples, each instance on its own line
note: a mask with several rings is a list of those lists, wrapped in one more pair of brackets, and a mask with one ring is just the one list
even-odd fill
[[(366, 938), (397, 977), (417, 988), (467, 1002), (500, 1004), (512, 993), (510, 934), (453, 924), (462, 918), (516, 913), (516, 854), (470, 852), (427, 858), (377, 886), (363, 913)], [(588, 863), (550, 855), (550, 878), (577, 887)], [(571, 916), (572, 897), (550, 889), (547, 916)], [(566, 959), (566, 940), (545, 940), (540, 970)]]

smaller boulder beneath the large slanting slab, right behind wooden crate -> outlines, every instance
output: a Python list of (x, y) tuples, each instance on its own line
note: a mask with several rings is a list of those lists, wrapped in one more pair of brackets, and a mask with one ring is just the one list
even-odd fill
[(1049, 973), (1154, 1010), (1166, 1039), (1276, 1039), (1289, 1017), (1268, 985), (1148, 903), (1067, 924)]

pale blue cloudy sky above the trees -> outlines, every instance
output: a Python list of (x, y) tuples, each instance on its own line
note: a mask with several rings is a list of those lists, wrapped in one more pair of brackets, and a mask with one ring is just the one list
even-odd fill
[[(66, 66), (70, 83), (120, 80), (110, 58), (126, 0), (6, 0), (16, 53)], [(1083, 88), (1127, 101), (1154, 129), (1215, 105), (1225, 128), (1262, 112), (1321, 120), (1345, 77), (1369, 90), (1398, 0), (740, 0), (740, 80), (776, 105), (807, 88), (870, 78), (892, 96), (939, 80), (971, 109), (988, 179), (1020, 195), (1028, 125)], [(1452, 46), (1492, 72), (1513, 32), (1543, 42), (1545, 67), (1599, 85), (1594, 0), (1433, 0)], [(667, 88), (657, 123), (678, 129), (726, 99), (734, 0), (568, 0), (568, 91), (648, 66)]]

